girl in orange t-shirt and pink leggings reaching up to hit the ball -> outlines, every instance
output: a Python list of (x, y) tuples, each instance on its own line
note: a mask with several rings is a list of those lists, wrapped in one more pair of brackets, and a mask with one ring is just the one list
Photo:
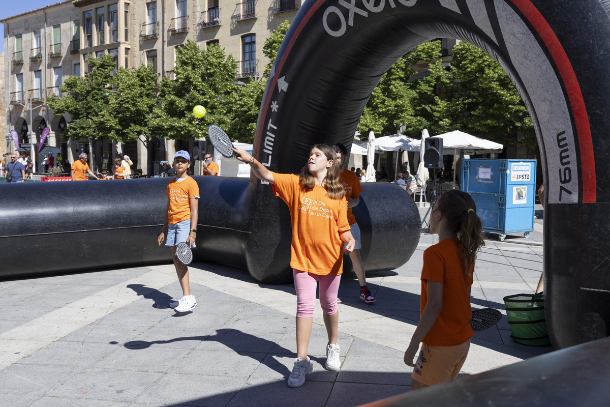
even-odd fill
[(290, 210), (292, 243), (290, 267), (296, 289), (296, 359), (288, 386), (305, 383), (313, 370), (307, 356), (314, 315), (315, 292), (320, 283), (320, 304), (328, 334), (326, 369), (337, 370), (339, 359), (339, 313), (337, 292), (345, 252), (354, 250), (354, 237), (347, 221), (345, 189), (339, 183), (339, 162), (328, 144), (312, 147), (300, 175), (272, 173), (243, 149), (234, 148), (237, 159), (251, 165), (254, 174), (273, 184), (274, 193)]

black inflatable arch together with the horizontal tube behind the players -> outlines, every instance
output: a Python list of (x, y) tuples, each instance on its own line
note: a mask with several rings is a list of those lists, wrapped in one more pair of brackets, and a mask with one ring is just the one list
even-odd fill
[[(610, 153), (605, 141), (610, 81), (602, 70), (610, 54), (610, 8), (605, 4), (308, 0), (267, 84), (255, 155), (271, 170), (295, 173), (312, 144), (350, 145), (373, 88), (407, 51), (438, 37), (479, 46), (519, 89), (544, 154), (551, 341), (567, 347), (608, 336), (610, 193), (604, 185), (610, 170), (604, 158)], [(288, 210), (270, 185), (254, 177), (197, 181), (202, 199), (196, 259), (248, 267), (266, 283), (289, 278)], [(156, 247), (166, 185), (163, 179), (2, 185), (0, 275), (169, 261), (167, 250)], [(365, 267), (399, 267), (417, 247), (417, 209), (395, 185), (363, 189), (354, 214)]]

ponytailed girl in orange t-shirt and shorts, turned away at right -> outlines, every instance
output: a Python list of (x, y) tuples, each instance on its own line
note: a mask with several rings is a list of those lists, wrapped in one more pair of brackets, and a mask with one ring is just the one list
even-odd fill
[(414, 367), (414, 390), (455, 380), (466, 361), (473, 336), (470, 288), (476, 253), (484, 244), (475, 201), (456, 189), (434, 204), (430, 229), (439, 235), (439, 243), (423, 253), (420, 322), (404, 352), (404, 362)]

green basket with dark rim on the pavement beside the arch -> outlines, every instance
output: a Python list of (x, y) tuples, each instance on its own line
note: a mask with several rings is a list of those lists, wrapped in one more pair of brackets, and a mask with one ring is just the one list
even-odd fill
[(511, 338), (530, 346), (550, 346), (544, 316), (544, 297), (539, 294), (517, 294), (504, 297)]

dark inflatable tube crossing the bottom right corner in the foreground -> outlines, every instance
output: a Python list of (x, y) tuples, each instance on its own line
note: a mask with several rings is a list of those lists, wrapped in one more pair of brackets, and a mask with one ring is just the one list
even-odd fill
[(379, 400), (367, 407), (606, 407), (610, 400), (608, 380), (610, 339), (605, 338)]

